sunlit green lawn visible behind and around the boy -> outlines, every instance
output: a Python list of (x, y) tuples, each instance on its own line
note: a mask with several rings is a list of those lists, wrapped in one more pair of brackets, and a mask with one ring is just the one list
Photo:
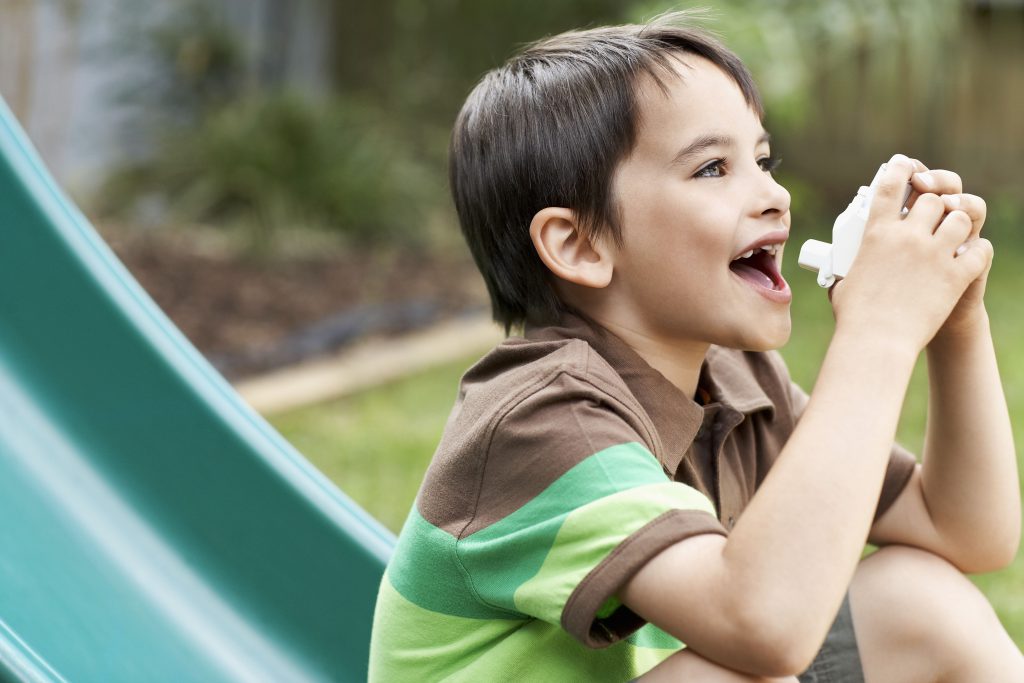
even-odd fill
[[(1024, 434), (1024, 270), (1000, 254), (988, 307), (1018, 444)], [(792, 259), (792, 260), (791, 260)], [(786, 272), (795, 289), (794, 336), (783, 349), (794, 378), (811, 387), (831, 331), (831, 311), (810, 273)], [(880, 331), (884, 334), (885, 331)], [(273, 425), (372, 515), (397, 531), (433, 454), (460, 375), (475, 358), (436, 368), (357, 396), (275, 417)], [(927, 405), (923, 364), (907, 395), (899, 440), (921, 452)], [(1018, 449), (1020, 451), (1020, 449)], [(1024, 645), (1024, 554), (1008, 569), (976, 579), (1018, 645)]]

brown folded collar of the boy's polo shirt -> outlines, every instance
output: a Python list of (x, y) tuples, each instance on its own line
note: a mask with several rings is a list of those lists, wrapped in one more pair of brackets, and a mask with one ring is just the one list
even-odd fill
[[(646, 411), (665, 453), (659, 458), (675, 473), (703, 422), (703, 409), (650, 367), (622, 339), (582, 315), (566, 313), (553, 327), (527, 326), (524, 336), (537, 341), (582, 339), (611, 366)], [(748, 368), (738, 366), (735, 351), (712, 347), (700, 371), (700, 386), (711, 402), (743, 414), (773, 404)], [(745, 362), (743, 364), (745, 366)]]

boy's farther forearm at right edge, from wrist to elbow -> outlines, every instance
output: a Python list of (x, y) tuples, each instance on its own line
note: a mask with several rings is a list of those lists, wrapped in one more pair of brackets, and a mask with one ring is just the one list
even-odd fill
[(1020, 540), (1020, 484), (988, 318), (928, 347), (929, 413), (922, 487), (947, 557), (980, 570)]

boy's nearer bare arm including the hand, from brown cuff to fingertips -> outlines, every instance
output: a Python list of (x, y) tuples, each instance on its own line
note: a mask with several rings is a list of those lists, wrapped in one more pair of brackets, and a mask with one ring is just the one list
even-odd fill
[(870, 528), (914, 360), (987, 267), (984, 241), (952, 257), (970, 220), (944, 217), (938, 197), (899, 219), (912, 171), (890, 164), (861, 255), (836, 288), (837, 331), (815, 390), (730, 536), (669, 548), (620, 593), (723, 666), (792, 675), (814, 657)]

